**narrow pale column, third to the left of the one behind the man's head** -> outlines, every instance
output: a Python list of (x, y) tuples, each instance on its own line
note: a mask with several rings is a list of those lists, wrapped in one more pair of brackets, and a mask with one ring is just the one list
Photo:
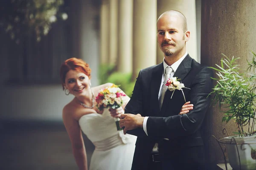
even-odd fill
[(116, 64), (117, 58), (117, 40), (118, 40), (118, 1), (110, 0), (110, 20), (106, 22), (110, 23), (109, 30), (109, 64)]

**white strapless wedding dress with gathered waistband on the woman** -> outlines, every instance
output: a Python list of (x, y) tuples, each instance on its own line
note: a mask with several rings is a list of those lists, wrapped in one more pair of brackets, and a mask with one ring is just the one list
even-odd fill
[(81, 116), (79, 125), (95, 146), (89, 170), (131, 170), (137, 136), (117, 131), (108, 109)]

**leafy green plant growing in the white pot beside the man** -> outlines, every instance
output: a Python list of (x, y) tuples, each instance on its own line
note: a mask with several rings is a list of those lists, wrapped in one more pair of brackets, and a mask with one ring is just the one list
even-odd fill
[(216, 68), (210, 67), (217, 71), (218, 76), (218, 78), (212, 78), (217, 82), (211, 93), (214, 94), (214, 104), (219, 103), (220, 110), (222, 106), (226, 108), (227, 111), (223, 111), (222, 122), (234, 119), (239, 137), (253, 135), (256, 119), (256, 75), (250, 73), (256, 68), (256, 54), (252, 54), (252, 61), (247, 61), (249, 65), (247, 72), (241, 73), (238, 68), (239, 58), (229, 59), (224, 54), (224, 58), (221, 58), (221, 65), (216, 64)]

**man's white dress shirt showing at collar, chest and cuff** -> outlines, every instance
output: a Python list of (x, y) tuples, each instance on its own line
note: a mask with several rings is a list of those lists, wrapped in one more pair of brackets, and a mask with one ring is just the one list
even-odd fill
[[(164, 75), (165, 75), (165, 69), (168, 66), (172, 67), (172, 73), (170, 75), (170, 77), (173, 77), (173, 75), (175, 74), (177, 68), (179, 67), (180, 63), (183, 61), (183, 59), (186, 57), (188, 53), (186, 52), (179, 60), (177, 60), (175, 63), (173, 63), (172, 65), (167, 65), (164, 58), (163, 58), (163, 74), (162, 74), (162, 81), (161, 81), (161, 85), (160, 85), (160, 89), (159, 89), (159, 93), (158, 93), (158, 99), (160, 98), (160, 91), (163, 88), (164, 85)], [(148, 132), (147, 132), (147, 121), (148, 121), (148, 116), (145, 116), (144, 120), (143, 120), (143, 130), (145, 131), (145, 133), (148, 136)]]

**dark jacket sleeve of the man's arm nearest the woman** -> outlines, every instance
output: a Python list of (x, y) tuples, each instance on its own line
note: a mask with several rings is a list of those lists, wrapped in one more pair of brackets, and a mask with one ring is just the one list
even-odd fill
[[(143, 94), (142, 94), (142, 84), (141, 84), (141, 72), (139, 72), (139, 75), (136, 79), (134, 90), (131, 95), (130, 101), (125, 106), (125, 113), (131, 113), (131, 114), (143, 114), (142, 109), (142, 100), (143, 100)], [(128, 130), (128, 134), (135, 135), (135, 136), (146, 136), (146, 133), (144, 132), (143, 128), (137, 128), (134, 130)]]

